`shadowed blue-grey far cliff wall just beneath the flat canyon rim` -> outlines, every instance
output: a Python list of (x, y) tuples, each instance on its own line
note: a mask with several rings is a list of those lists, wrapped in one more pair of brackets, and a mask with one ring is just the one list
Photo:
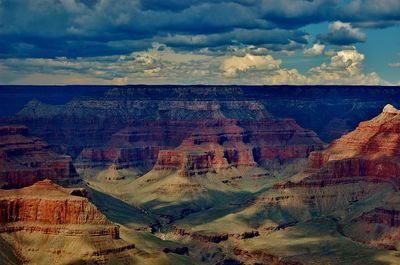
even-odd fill
[[(140, 91), (117, 88), (106, 91), (100, 97), (82, 97), (65, 105), (32, 100), (17, 113), (16, 120), (28, 125), (35, 135), (45, 138), (54, 148), (75, 157), (85, 147), (103, 146), (132, 120), (192, 121), (270, 116), (258, 101), (240, 97), (233, 100), (226, 96), (213, 98), (205, 96), (207, 90), (194, 90), (193, 93), (185, 89), (177, 90), (176, 97), (165, 95), (166, 98), (159, 98), (156, 93), (146, 92), (145, 89)], [(227, 92), (233, 96), (237, 93), (235, 90)]]

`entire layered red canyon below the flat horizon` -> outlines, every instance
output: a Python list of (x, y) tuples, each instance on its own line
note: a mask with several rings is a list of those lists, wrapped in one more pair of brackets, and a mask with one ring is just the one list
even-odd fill
[(400, 263), (395, 88), (15, 89), (5, 264)]

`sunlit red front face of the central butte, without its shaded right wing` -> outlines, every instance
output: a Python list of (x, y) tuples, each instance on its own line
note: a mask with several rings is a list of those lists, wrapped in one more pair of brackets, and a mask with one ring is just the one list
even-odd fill
[(177, 170), (181, 176), (216, 173), (231, 166), (256, 166), (252, 147), (236, 120), (208, 120), (174, 150), (161, 151), (154, 170)]

